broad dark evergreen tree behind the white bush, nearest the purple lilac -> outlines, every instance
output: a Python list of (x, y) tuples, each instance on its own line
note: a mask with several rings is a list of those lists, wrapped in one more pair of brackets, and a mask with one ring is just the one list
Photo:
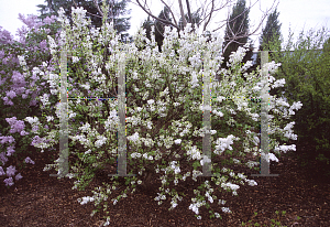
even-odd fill
[[(130, 29), (129, 20), (131, 18), (118, 18), (120, 14), (125, 14), (125, 8), (129, 0), (122, 0), (120, 2), (114, 2), (111, 0), (107, 1), (109, 4), (109, 13), (108, 13), (108, 22), (113, 20), (114, 30), (117, 30), (117, 34), (121, 34), (121, 41), (125, 41), (129, 37), (129, 33), (123, 33)], [(96, 8), (94, 0), (45, 0), (46, 4), (37, 4), (40, 8), (41, 15), (38, 15), (40, 20), (44, 20), (46, 17), (56, 15), (58, 17), (57, 11), (62, 7), (65, 11), (65, 15), (68, 18), (70, 25), (73, 25), (72, 18), (72, 7), (82, 7), (87, 10), (86, 17), (91, 20), (91, 26), (101, 28), (102, 18)], [(102, 1), (98, 0), (97, 4), (99, 9), (102, 7)], [(130, 11), (129, 11), (130, 12)]]

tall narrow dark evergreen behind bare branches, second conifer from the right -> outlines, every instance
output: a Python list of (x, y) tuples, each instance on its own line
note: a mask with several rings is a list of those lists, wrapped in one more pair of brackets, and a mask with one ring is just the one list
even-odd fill
[(227, 66), (227, 63), (229, 63), (229, 56), (231, 55), (231, 53), (237, 52), (239, 46), (243, 47), (248, 42), (250, 43), (250, 50), (245, 53), (242, 63), (244, 64), (248, 61), (252, 61), (253, 45), (251, 43), (251, 40), (248, 36), (235, 39), (235, 36), (243, 36), (244, 34), (249, 33), (250, 10), (245, 10), (245, 0), (239, 0), (232, 9), (232, 13), (229, 18), (230, 22), (227, 24), (226, 28), (223, 48), (229, 44), (230, 40), (234, 41), (228, 45), (223, 53), (224, 60), (221, 64), (221, 68), (228, 69), (229, 67)]

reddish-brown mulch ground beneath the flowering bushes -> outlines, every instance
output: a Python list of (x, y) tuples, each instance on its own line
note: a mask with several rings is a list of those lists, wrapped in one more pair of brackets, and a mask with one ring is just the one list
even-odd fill
[[(310, 148), (298, 144), (296, 152), (306, 149)], [(57, 180), (50, 176), (56, 173), (54, 170), (43, 172), (45, 164), (52, 163), (51, 152), (41, 153), (33, 147), (32, 151), (30, 156), (35, 165), (28, 164), (26, 169), (19, 171), (23, 179), (9, 190), (0, 179), (0, 226), (101, 226), (106, 214), (102, 208), (101, 214), (91, 217), (94, 204), (80, 205), (77, 202), (79, 197), (91, 196), (91, 190), (99, 184), (92, 181), (86, 191), (72, 190), (74, 179)], [(134, 194), (129, 193), (127, 198), (112, 205), (110, 199), (119, 195), (116, 191), (108, 199), (111, 216), (109, 226), (240, 226), (248, 220), (252, 220), (252, 225), (258, 223), (261, 226), (271, 226), (271, 219), (277, 220), (276, 210), (286, 210), (286, 215), (278, 219), (284, 226), (330, 226), (329, 177), (320, 175), (316, 169), (300, 166), (295, 152), (282, 155), (278, 163), (271, 163), (271, 173), (279, 174), (277, 177), (256, 177), (251, 176), (256, 171), (234, 170), (255, 180), (257, 186), (240, 185), (239, 196), (220, 193), (218, 191), (215, 194), (219, 196), (211, 207), (222, 219), (209, 219), (209, 210), (202, 206), (199, 208), (202, 219), (198, 220), (195, 213), (188, 209), (190, 198), (195, 195), (187, 186), (182, 191), (187, 196), (173, 210), (168, 210), (169, 198), (161, 206), (154, 201), (157, 190), (136, 190)], [(197, 182), (195, 185), (198, 185)], [(224, 206), (232, 213), (222, 213), (218, 199), (227, 201)], [(297, 220), (297, 216), (301, 219)]]

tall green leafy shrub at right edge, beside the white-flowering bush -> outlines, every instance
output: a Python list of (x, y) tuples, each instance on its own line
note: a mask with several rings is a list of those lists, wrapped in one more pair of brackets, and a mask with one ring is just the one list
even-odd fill
[[(290, 34), (290, 37), (293, 34)], [(277, 43), (278, 44), (278, 43)], [(294, 47), (295, 51), (289, 52)], [(315, 158), (330, 158), (330, 52), (329, 37), (324, 30), (312, 31), (304, 37), (301, 32), (297, 44), (289, 41), (286, 52), (274, 53), (275, 62), (282, 63), (277, 78), (285, 78), (284, 88), (277, 88), (289, 104), (300, 100), (302, 107), (293, 118), (298, 143), (311, 144), (309, 151)], [(323, 161), (327, 161), (323, 159)]]

